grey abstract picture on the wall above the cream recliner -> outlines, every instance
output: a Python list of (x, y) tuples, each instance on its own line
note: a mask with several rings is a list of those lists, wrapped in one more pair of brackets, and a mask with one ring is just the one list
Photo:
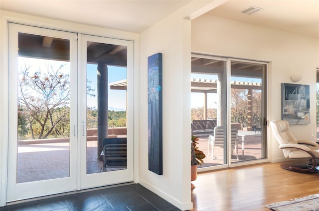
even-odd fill
[(282, 120), (289, 125), (310, 124), (309, 85), (282, 83)]

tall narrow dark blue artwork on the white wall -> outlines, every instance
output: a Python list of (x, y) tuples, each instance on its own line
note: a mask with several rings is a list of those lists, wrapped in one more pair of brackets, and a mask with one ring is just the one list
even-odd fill
[(149, 170), (159, 175), (162, 167), (162, 55), (148, 57)]

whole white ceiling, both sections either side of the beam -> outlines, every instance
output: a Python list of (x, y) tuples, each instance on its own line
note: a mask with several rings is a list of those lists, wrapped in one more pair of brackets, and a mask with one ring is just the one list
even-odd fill
[[(190, 0), (0, 0), (3, 10), (140, 33)], [(257, 6), (252, 15), (241, 10)], [(319, 0), (229, 0), (208, 13), (319, 37)]]

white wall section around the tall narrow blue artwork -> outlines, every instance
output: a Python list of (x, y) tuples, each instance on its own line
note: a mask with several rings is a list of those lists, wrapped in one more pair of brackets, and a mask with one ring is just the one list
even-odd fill
[[(165, 18), (144, 31), (140, 38), (139, 182), (181, 210), (192, 209), (190, 159), (184, 159), (190, 153), (189, 125), (184, 124), (190, 123), (190, 92), (184, 91), (190, 90), (190, 62), (185, 62), (190, 58), (190, 20)], [(148, 170), (147, 61), (156, 53), (162, 53), (162, 175)], [(184, 68), (189, 72), (183, 71)]]

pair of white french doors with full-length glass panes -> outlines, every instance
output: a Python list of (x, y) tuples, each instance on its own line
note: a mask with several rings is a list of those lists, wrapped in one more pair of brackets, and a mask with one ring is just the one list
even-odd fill
[[(8, 24), (8, 35), (6, 201), (133, 181), (133, 131), (130, 129), (133, 127), (131, 111), (126, 109), (133, 101), (130, 94), (133, 88), (127, 82), (133, 78), (132, 42), (13, 23)], [(102, 48), (89, 48), (95, 44)], [(101, 58), (111, 49), (117, 50), (113, 51), (111, 60), (105, 60), (105, 65), (118, 65), (118, 61), (112, 63), (112, 59), (118, 59), (116, 54), (122, 51), (125, 62), (117, 73), (121, 72), (129, 85), (121, 101), (125, 104), (122, 122), (127, 133), (122, 136), (127, 137), (127, 165), (105, 170), (99, 157), (97, 136), (89, 139), (87, 131), (99, 131), (94, 118), (103, 108), (102, 104), (99, 107), (94, 104), (93, 96), (100, 99), (106, 93), (111, 98), (109, 102), (120, 101), (112, 98), (108, 84), (101, 85), (101, 81), (96, 88), (107, 90), (95, 94), (98, 74), (93, 66), (98, 63), (94, 58)], [(107, 130), (107, 126), (104, 129)], [(102, 134), (107, 136), (108, 132)]]

